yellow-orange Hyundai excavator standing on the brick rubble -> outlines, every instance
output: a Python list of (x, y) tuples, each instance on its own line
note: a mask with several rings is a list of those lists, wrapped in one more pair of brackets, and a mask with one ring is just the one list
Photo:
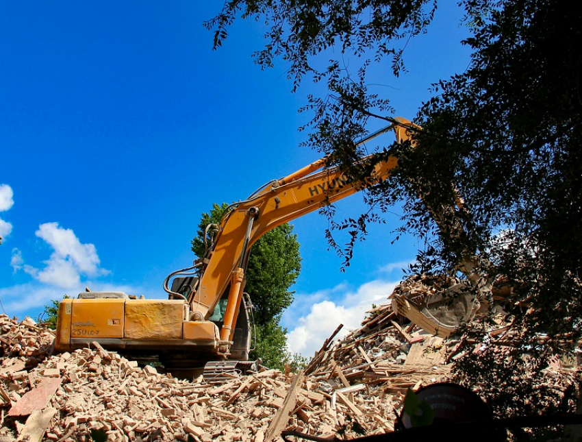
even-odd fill
[[(389, 130), (402, 142), (411, 139), (410, 130), (418, 129), (398, 118), (359, 143)], [(385, 180), (396, 167), (397, 158), (381, 162), (375, 158), (361, 160), (362, 165), (374, 166), (364, 182), (351, 181), (338, 168), (326, 168), (329, 158), (322, 158), (231, 205), (220, 225), (208, 226), (205, 241), (209, 236), (213, 239), (208, 241), (205, 255), (164, 281), (169, 299), (136, 299), (122, 292), (93, 291), (80, 293), (77, 299), (63, 299), (58, 310), (56, 349), (69, 351), (97, 342), (136, 358), (158, 358), (171, 369), (192, 369), (218, 361), (214, 368), (224, 371), (247, 361), (251, 327), (244, 284), (253, 243), (278, 225)], [(414, 313), (414, 309), (409, 311)]]

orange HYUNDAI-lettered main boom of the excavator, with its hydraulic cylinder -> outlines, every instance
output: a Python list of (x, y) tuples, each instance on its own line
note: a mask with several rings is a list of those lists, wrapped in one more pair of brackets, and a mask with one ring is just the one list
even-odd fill
[[(362, 162), (371, 160), (373, 156), (364, 158)], [(337, 168), (317, 171), (326, 164), (325, 159), (318, 160), (232, 206), (220, 223), (197, 289), (190, 295), (193, 314), (200, 319), (207, 319), (227, 286), (230, 286), (225, 321), (220, 333), (221, 339), (229, 340), (244, 289), (246, 260), (253, 243), (278, 225), (377, 184), (388, 177), (396, 163), (394, 157), (379, 162), (367, 182), (355, 183)]]

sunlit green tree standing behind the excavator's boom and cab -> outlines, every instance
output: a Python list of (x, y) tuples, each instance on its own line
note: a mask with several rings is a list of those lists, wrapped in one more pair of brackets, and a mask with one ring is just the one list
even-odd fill
[[(214, 204), (204, 212), (192, 251), (204, 256), (204, 234), (210, 223), (219, 224), (228, 204)], [(253, 303), (256, 328), (256, 347), (251, 358), (261, 358), (268, 367), (283, 369), (291, 356), (287, 350), (287, 330), (280, 325), (283, 310), (293, 302), (289, 288), (301, 270), (299, 243), (292, 225), (286, 223), (259, 238), (251, 249), (246, 269), (246, 293)]]

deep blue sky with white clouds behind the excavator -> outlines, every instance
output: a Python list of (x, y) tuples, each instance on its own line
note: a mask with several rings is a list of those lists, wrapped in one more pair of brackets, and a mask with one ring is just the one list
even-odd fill
[[(0, 3), (0, 301), (38, 317), (85, 286), (166, 297), (162, 281), (194, 258), (190, 241), (214, 202), (318, 158), (299, 147), (305, 82), (286, 66), (261, 71), (260, 23), (236, 21), (212, 50), (203, 21), (220, 1)], [(375, 68), (377, 91), (412, 118), (431, 82), (463, 71), (468, 51), (454, 2), (406, 49), (409, 73)], [(349, 64), (349, 57), (346, 63)], [(354, 60), (355, 64), (355, 60)], [(386, 138), (390, 143), (392, 138)], [(340, 217), (362, 208), (355, 195)], [(327, 220), (294, 221), (303, 271), (283, 317), (290, 349), (310, 355), (342, 322), (357, 327), (384, 302), (420, 247), (391, 245), (399, 209), (370, 229), (351, 267), (327, 249)], [(341, 238), (340, 238), (341, 239)], [(2, 310), (0, 310), (2, 311)]]

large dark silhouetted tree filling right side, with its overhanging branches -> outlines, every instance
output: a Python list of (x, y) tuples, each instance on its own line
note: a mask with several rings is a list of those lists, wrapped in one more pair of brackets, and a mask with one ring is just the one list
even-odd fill
[[(393, 112), (388, 97), (370, 92), (369, 66), (388, 62), (395, 75), (403, 74), (406, 42), (430, 32), (440, 4), (240, 0), (225, 2), (206, 25), (218, 47), (239, 16), (268, 23), (255, 62), (286, 62), (293, 88), (306, 75), (325, 84), (303, 108), (314, 115), (305, 144), (333, 153), (357, 178), (350, 166), (361, 152), (350, 141), (368, 133), (372, 121), (392, 121)], [(485, 373), (488, 400), (505, 415), (571, 409), (571, 396), (558, 400), (537, 388), (537, 378), (551, 354), (571, 352), (581, 339), (582, 11), (557, 0), (461, 0), (459, 6), (470, 66), (433, 85), (433, 98), (415, 119), (423, 130), (414, 149), (380, 149), (398, 156), (399, 168), (367, 199), (380, 211), (404, 201), (398, 232), (418, 234), (427, 244), (412, 270), (448, 270), (461, 254), (478, 253), (486, 271), (513, 283), (507, 308), (520, 344), (509, 353), (467, 352), (459, 364), (465, 382), (480, 384)], [(355, 71), (342, 62), (347, 55), (362, 60)], [(451, 183), (470, 213), (457, 213), (466, 232), (461, 241), (439, 236), (427, 209), (451, 204)], [(332, 225), (363, 236), (370, 219), (366, 213)], [(344, 253), (349, 260), (351, 247)], [(524, 373), (535, 375), (526, 380)]]

